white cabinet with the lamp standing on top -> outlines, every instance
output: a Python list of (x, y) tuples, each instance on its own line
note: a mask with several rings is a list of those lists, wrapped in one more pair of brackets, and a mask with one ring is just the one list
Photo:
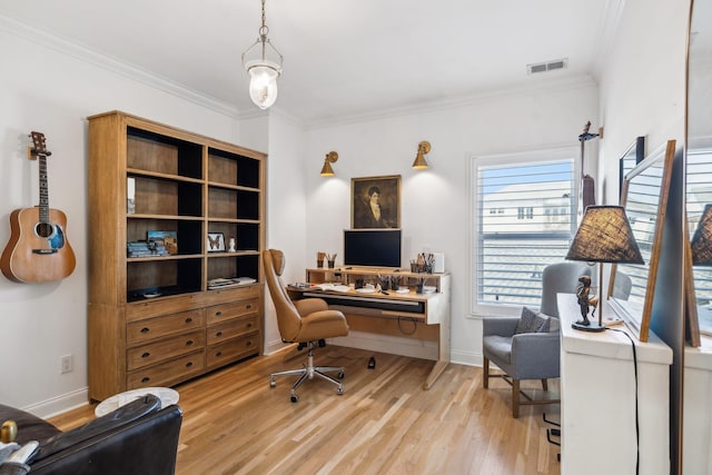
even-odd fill
[[(558, 294), (563, 475), (635, 473), (635, 378), (631, 342), (617, 331), (571, 328), (581, 317), (576, 296)], [(611, 311), (611, 307), (605, 309)], [(672, 349), (652, 331), (637, 356), (640, 473), (670, 473)]]

